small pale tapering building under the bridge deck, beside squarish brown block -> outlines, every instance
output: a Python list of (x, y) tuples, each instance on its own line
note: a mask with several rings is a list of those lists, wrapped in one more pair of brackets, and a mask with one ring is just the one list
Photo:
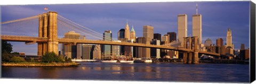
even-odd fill
[(94, 60), (101, 60), (101, 49), (100, 49), (100, 45), (95, 45), (94, 49), (93, 49), (93, 59)]

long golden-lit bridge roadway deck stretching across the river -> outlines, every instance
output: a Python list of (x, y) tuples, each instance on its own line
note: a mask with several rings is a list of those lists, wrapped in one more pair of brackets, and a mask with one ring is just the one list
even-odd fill
[[(29, 36), (11, 36), (11, 35), (2, 35), (1, 40), (6, 41), (25, 41), (25, 42), (47, 42), (47, 38), (43, 37), (29, 37)], [(148, 45), (148, 44), (140, 44), (140, 43), (126, 43), (126, 42), (117, 42), (117, 41), (102, 41), (102, 40), (84, 40), (84, 39), (67, 39), (67, 38), (59, 38), (59, 43), (63, 44), (104, 44), (104, 45), (122, 45), (122, 46), (136, 46), (136, 47), (148, 47), (148, 48), (159, 48), (159, 49), (169, 49), (173, 51), (181, 51), (181, 52), (194, 52), (191, 49), (186, 48), (178, 48), (172, 46), (159, 46), (159, 45)], [(212, 52), (202, 52), (199, 51), (199, 54), (220, 56), (218, 53)]]

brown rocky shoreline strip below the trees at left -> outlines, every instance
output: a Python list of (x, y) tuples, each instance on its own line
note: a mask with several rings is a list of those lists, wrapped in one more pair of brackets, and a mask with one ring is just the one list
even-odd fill
[(80, 65), (76, 62), (71, 63), (32, 63), (32, 62), (21, 62), (21, 63), (2, 63), (2, 67), (77, 67)]

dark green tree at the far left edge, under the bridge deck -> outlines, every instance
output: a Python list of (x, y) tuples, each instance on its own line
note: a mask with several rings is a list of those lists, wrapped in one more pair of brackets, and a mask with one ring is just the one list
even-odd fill
[(7, 41), (2, 40), (2, 53), (7, 52), (11, 53), (12, 52), (12, 44), (7, 43)]

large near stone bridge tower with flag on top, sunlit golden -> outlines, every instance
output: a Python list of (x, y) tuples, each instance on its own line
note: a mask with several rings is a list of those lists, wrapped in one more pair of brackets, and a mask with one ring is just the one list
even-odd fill
[(47, 38), (46, 43), (37, 43), (37, 55), (42, 56), (46, 52), (54, 52), (58, 55), (58, 26), (57, 12), (49, 11), (39, 14), (38, 37)]

